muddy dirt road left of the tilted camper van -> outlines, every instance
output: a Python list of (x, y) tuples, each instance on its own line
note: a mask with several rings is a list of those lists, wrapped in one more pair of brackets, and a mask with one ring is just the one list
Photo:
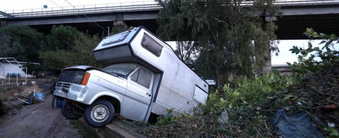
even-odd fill
[[(22, 90), (38, 90), (35, 87)], [(0, 117), (0, 137), (83, 137), (54, 107), (51, 108), (51, 95), (47, 95), (44, 102), (24, 105), (20, 113)]]

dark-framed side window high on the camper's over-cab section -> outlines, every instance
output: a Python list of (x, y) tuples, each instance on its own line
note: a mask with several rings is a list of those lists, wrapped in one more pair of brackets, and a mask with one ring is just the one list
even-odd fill
[(147, 34), (144, 34), (142, 37), (141, 45), (157, 57), (160, 57), (161, 51), (163, 50), (163, 46), (155, 42)]

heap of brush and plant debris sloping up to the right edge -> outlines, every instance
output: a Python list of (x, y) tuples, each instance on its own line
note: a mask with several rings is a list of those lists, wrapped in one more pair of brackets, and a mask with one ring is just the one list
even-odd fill
[(272, 120), (282, 109), (285, 117), (306, 117), (305, 124), (317, 130), (316, 135), (330, 135), (328, 127), (339, 130), (338, 81), (339, 62), (336, 62), (301, 78), (289, 88), (263, 96), (270, 98), (261, 104), (248, 103), (253, 107), (227, 109), (229, 121), (226, 122), (221, 120), (220, 112), (208, 116), (161, 117), (163, 125), (133, 127), (149, 137), (279, 137), (282, 133)]

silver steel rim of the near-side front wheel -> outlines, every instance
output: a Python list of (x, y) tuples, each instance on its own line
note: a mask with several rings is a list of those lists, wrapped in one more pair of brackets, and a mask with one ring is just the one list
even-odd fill
[(99, 104), (92, 108), (91, 118), (95, 122), (103, 122), (110, 115), (110, 111), (107, 106)]

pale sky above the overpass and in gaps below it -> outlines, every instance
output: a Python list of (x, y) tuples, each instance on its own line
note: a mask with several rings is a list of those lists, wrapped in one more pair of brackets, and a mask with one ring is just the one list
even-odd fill
[[(147, 0), (146, 0), (147, 1)], [(68, 3), (67, 3), (68, 2)], [(6, 10), (24, 10), (24, 9), (38, 9), (43, 8), (46, 5), (48, 8), (52, 7), (67, 7), (67, 6), (83, 6), (83, 5), (99, 5), (99, 4), (113, 4), (113, 3), (137, 3), (138, 0), (0, 0), (0, 11), (5, 12)], [(154, 3), (153, 0), (147, 1), (148, 3)], [(71, 5), (70, 5), (71, 4)], [(300, 32), (303, 33), (303, 32)], [(319, 32), (321, 33), (321, 32)], [(306, 38), (306, 36), (305, 36)], [(286, 62), (297, 62), (298, 55), (291, 53), (289, 49), (292, 46), (304, 47), (307, 48), (308, 40), (280, 40), (278, 48), (280, 50), (279, 56), (272, 54), (272, 65), (277, 64), (286, 64)], [(175, 49), (175, 42), (168, 42), (173, 49)], [(314, 46), (317, 46), (319, 42), (312, 43)], [(319, 46), (322, 47), (322, 46)], [(338, 50), (338, 44), (336, 45), (336, 50)]]

